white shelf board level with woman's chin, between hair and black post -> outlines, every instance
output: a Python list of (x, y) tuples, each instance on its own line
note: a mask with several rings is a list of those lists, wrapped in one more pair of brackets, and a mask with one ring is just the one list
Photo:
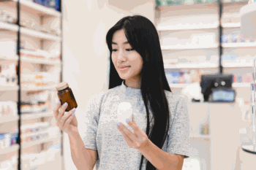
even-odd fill
[(217, 63), (165, 64), (165, 69), (216, 69)]

